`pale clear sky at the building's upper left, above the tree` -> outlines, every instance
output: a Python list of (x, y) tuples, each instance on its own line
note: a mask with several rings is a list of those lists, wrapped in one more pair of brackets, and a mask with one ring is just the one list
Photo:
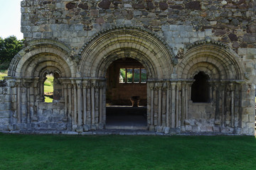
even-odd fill
[(21, 33), (21, 1), (22, 0), (0, 0), (1, 38), (15, 35), (18, 40), (23, 39), (23, 33)]

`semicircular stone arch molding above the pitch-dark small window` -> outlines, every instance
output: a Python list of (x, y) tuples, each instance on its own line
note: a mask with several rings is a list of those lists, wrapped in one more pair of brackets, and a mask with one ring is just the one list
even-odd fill
[(226, 45), (207, 40), (189, 46), (176, 68), (178, 79), (193, 79), (198, 72), (205, 72), (215, 80), (244, 79), (238, 55)]

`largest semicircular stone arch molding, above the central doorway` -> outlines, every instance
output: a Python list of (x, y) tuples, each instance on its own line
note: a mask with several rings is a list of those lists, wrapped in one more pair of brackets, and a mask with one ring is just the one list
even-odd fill
[(170, 79), (174, 72), (174, 55), (163, 41), (146, 30), (113, 28), (95, 35), (85, 45), (79, 65), (83, 77), (103, 78), (107, 66), (121, 57), (142, 62), (149, 71), (149, 79)]

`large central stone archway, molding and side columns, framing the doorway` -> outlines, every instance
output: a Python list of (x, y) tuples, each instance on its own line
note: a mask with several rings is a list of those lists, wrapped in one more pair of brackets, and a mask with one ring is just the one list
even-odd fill
[(165, 87), (166, 81), (171, 79), (171, 74), (174, 72), (172, 62), (174, 56), (160, 38), (139, 28), (114, 28), (102, 32), (95, 36), (81, 52), (79, 70), (82, 79), (87, 78), (81, 82), (84, 82), (83, 87), (87, 88), (85, 93), (88, 94), (89, 91), (91, 95), (90, 98), (84, 95), (82, 101), (88, 102), (88, 99), (97, 98), (96, 103), (95, 101), (89, 105), (84, 103), (84, 106), (91, 106), (90, 111), (87, 111), (92, 115), (91, 125), (102, 127), (105, 123), (105, 74), (114, 60), (124, 57), (131, 57), (146, 68), (149, 127), (154, 129), (156, 126), (166, 126), (166, 120), (162, 120), (166, 117), (166, 100), (168, 100), (166, 98), (169, 97), (166, 96)]

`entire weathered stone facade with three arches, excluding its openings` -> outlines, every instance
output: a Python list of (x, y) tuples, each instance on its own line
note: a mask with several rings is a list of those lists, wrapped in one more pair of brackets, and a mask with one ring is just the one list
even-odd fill
[[(18, 52), (1, 90), (1, 130), (105, 128), (106, 72), (130, 57), (147, 72), (147, 127), (254, 135), (255, 1), (23, 0)], [(44, 74), (63, 96), (43, 102)], [(193, 103), (194, 76), (210, 102)]]

